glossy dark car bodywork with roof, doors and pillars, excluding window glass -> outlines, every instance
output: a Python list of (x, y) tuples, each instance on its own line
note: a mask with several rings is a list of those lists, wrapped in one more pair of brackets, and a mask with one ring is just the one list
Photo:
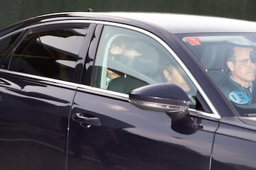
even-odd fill
[[(87, 28), (73, 81), (9, 70), (26, 36), (65, 26)], [(204, 110), (188, 108), (176, 120), (173, 113), (137, 107), (128, 94), (94, 87), (105, 26), (159, 42), (195, 84)], [(238, 116), (180, 40), (185, 34), (255, 28), (249, 21), (167, 13), (55, 13), (4, 28), (0, 41), (15, 40), (0, 60), (1, 169), (255, 169), (255, 118)]]

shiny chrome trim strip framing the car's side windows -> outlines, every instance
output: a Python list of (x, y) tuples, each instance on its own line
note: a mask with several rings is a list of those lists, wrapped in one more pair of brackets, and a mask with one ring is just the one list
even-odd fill
[[(211, 111), (213, 111), (213, 113), (204, 113), (204, 112), (201, 112), (201, 111), (200, 112), (197, 111), (198, 115), (206, 115), (208, 117), (220, 119), (220, 114), (218, 113), (218, 111), (213, 106), (213, 103), (210, 101), (208, 96), (205, 94), (205, 92), (203, 91), (203, 88), (198, 84), (196, 79), (193, 77), (193, 74), (191, 74), (191, 72), (189, 72), (189, 70), (186, 68), (185, 64), (183, 64), (183, 62), (179, 59), (178, 55), (176, 55), (176, 53), (173, 50), (171, 50), (171, 47), (169, 47), (169, 45), (167, 45), (166, 42), (161, 40), (161, 38), (159, 38), (158, 36), (154, 35), (153, 33), (149, 33), (147, 30), (144, 30), (142, 28), (137, 28), (135, 26), (125, 25), (123, 23), (112, 23), (111, 21), (93, 21), (93, 20), (83, 20), (82, 21), (82, 20), (75, 20), (75, 19), (74, 20), (68, 20), (68, 21), (50, 21), (50, 22), (47, 22), (47, 23), (38, 23), (38, 24), (33, 25), (33, 26), (28, 26), (26, 28), (21, 28), (21, 30), (30, 29), (30, 28), (36, 28), (36, 27), (39, 27), (39, 26), (47, 26), (47, 25), (50, 25), (50, 24), (54, 24), (55, 25), (55, 24), (67, 24), (67, 23), (96, 23), (96, 24), (103, 24), (103, 25), (108, 25), (108, 26), (117, 26), (117, 27), (120, 27), (120, 28), (127, 28), (127, 29), (130, 29), (130, 30), (135, 30), (135, 31), (137, 31), (139, 33), (144, 33), (145, 35), (148, 35), (149, 37), (153, 38), (154, 40), (159, 42), (161, 45), (163, 45), (163, 47), (165, 47), (166, 50), (174, 57), (174, 59), (178, 62), (178, 64), (181, 65), (181, 68), (186, 72), (188, 77), (190, 77), (190, 79), (193, 82), (193, 84), (195, 84), (195, 86), (198, 89), (198, 91), (201, 93), (203, 98), (208, 103), (208, 106), (210, 107)], [(16, 73), (16, 74), (21, 75), (21, 73)], [(25, 74), (25, 75), (28, 75), (28, 74)], [(38, 77), (38, 76), (31, 75), (29, 77)], [(42, 79), (42, 77), (40, 77), (40, 79)], [(45, 78), (45, 77), (43, 77), (43, 79), (46, 79), (46, 81), (66, 82), (68, 84), (73, 84), (73, 83), (69, 83), (68, 81), (60, 81), (60, 80), (55, 80), (55, 79), (50, 79), (50, 78)], [(71, 85), (71, 86), (73, 86), (73, 85)], [(103, 90), (103, 89), (99, 90), (99, 89), (93, 88), (93, 87), (89, 88), (89, 86), (86, 86), (86, 87), (80, 86), (80, 88), (85, 88), (85, 89), (87, 89), (87, 91), (92, 88), (90, 91), (97, 91), (97, 92), (102, 91), (101, 93), (105, 93), (105, 90)], [(111, 92), (107, 91), (106, 93), (114, 95), (114, 96), (119, 96), (121, 98), (129, 98), (128, 95), (124, 95), (123, 96), (120, 93), (113, 93), (112, 91)]]

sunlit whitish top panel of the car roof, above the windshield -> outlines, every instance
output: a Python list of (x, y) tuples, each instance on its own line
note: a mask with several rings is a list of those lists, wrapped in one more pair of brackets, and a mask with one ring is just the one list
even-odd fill
[(256, 23), (216, 16), (196, 16), (180, 13), (109, 13), (108, 15), (153, 23), (170, 33), (255, 32)]

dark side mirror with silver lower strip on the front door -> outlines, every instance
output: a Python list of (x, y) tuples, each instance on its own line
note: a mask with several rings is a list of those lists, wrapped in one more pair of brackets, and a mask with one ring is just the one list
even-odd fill
[(129, 93), (129, 101), (145, 110), (166, 112), (174, 120), (188, 114), (190, 103), (186, 92), (175, 84), (151, 84), (134, 89)]

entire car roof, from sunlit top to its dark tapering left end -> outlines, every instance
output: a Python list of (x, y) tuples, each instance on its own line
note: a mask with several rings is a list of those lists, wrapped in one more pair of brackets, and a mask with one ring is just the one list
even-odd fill
[[(169, 33), (227, 33), (255, 32), (256, 23), (231, 18), (214, 16), (195, 16), (179, 13), (145, 13), (145, 12), (65, 12), (50, 13), (18, 22), (5, 31), (17, 30), (25, 26), (49, 21), (87, 19), (95, 21), (112, 21), (133, 26), (154, 26)], [(1, 35), (4, 30), (1, 31)]]

